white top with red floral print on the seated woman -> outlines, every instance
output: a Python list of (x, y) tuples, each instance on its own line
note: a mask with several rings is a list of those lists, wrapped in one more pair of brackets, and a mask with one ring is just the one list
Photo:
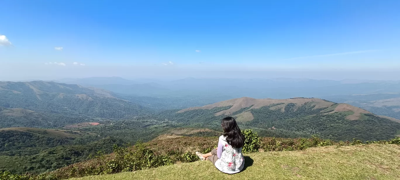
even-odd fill
[(218, 144), (221, 143), (223, 151), (221, 158), (215, 162), (215, 167), (227, 174), (240, 172), (244, 166), (244, 157), (242, 148), (234, 148), (226, 142), (226, 138), (222, 135)]

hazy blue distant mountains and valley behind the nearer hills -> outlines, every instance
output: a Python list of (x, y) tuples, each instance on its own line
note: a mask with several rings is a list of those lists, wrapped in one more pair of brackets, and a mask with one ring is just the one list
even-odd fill
[[(296, 78), (235, 79), (184, 78), (162, 81), (154, 79), (126, 80), (119, 77), (93, 77), (59, 80), (67, 84), (103, 88), (130, 96), (156, 98), (187, 97), (192, 102), (210, 98), (208, 103), (244, 96), (252, 98), (315, 97), (347, 103), (375, 114), (400, 119), (400, 81), (383, 80), (312, 80)], [(212, 99), (216, 99), (213, 101)], [(377, 102), (379, 101), (379, 102)], [(204, 101), (203, 101), (204, 102)], [(377, 104), (378, 103), (378, 104)], [(201, 104), (201, 103), (200, 103)], [(197, 106), (198, 104), (186, 104)]]

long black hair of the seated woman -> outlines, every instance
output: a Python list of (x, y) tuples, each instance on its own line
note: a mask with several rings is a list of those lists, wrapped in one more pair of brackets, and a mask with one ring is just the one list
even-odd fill
[(222, 119), (222, 128), (224, 129), (224, 136), (226, 142), (234, 148), (242, 148), (244, 144), (244, 136), (238, 124), (236, 124), (235, 118), (226, 117)]

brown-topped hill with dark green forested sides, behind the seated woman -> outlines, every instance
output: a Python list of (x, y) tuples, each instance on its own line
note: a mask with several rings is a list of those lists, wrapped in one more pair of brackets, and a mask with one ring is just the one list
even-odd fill
[(245, 97), (168, 114), (176, 122), (215, 130), (224, 116), (234, 116), (241, 127), (252, 128), (264, 136), (320, 135), (333, 140), (384, 140), (398, 135), (400, 130), (400, 123), (394, 118), (376, 116), (349, 104), (318, 98)]

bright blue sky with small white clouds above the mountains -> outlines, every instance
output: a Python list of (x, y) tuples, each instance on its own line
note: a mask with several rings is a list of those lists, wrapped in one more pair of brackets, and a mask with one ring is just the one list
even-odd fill
[(0, 4), (0, 80), (400, 69), (397, 0)]

